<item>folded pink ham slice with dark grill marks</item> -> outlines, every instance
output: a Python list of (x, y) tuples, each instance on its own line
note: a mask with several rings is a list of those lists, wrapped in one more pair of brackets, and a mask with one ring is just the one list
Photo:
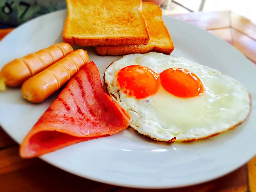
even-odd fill
[(104, 91), (89, 62), (73, 77), (23, 139), (20, 155), (38, 157), (82, 141), (113, 135), (129, 126), (129, 114)]

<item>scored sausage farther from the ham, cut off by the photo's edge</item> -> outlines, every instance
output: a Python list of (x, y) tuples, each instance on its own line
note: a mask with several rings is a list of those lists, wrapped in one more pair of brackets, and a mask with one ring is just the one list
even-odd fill
[(4, 91), (6, 85), (21, 86), (27, 79), (53, 65), (72, 51), (74, 49), (68, 43), (56, 43), (46, 49), (14, 59), (3, 66), (0, 71), (0, 90)]

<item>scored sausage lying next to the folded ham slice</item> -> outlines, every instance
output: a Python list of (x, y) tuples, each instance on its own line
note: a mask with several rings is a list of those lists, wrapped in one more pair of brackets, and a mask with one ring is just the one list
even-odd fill
[(75, 50), (57, 63), (25, 81), (22, 95), (32, 103), (40, 103), (65, 85), (89, 61), (86, 51)]

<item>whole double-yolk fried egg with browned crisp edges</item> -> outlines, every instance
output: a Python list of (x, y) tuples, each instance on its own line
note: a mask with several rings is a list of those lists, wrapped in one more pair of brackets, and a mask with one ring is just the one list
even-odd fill
[(251, 109), (245, 86), (183, 57), (150, 52), (114, 61), (107, 93), (130, 115), (130, 126), (155, 141), (215, 136), (241, 124)]

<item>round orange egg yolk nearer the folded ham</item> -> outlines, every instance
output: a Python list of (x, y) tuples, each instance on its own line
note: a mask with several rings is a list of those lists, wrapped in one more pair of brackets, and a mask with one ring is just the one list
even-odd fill
[(124, 67), (117, 73), (117, 82), (122, 91), (137, 99), (147, 98), (159, 89), (158, 75), (153, 70), (141, 66)]

